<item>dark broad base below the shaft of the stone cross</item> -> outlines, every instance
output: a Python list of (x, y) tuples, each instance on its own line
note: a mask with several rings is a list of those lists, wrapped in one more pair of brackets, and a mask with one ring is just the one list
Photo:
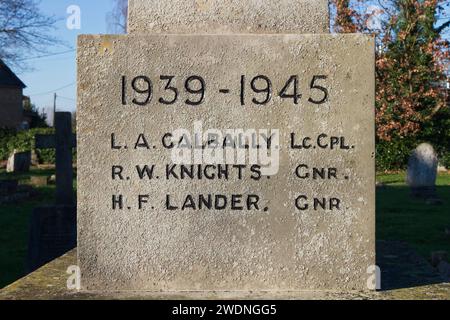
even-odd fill
[(76, 247), (76, 217), (73, 205), (33, 210), (28, 240), (28, 272), (33, 272)]

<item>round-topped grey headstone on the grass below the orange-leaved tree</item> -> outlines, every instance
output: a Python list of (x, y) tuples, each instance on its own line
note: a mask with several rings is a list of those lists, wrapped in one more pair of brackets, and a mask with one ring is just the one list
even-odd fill
[(406, 182), (414, 197), (436, 198), (437, 156), (433, 146), (420, 144), (408, 161)]

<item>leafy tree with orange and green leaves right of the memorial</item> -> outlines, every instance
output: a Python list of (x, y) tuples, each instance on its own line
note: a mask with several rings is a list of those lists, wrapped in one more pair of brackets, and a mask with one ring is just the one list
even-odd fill
[[(337, 32), (375, 32), (376, 125), (380, 148), (409, 149), (428, 140), (448, 157), (450, 112), (447, 100), (446, 70), (449, 46), (442, 32), (447, 20), (437, 26), (442, 0), (391, 0), (380, 6), (381, 30), (370, 30), (372, 16), (362, 7), (368, 1), (332, 0)], [(380, 1), (378, 3), (381, 3)], [(377, 146), (378, 148), (378, 146)], [(394, 150), (392, 150), (394, 149)], [(394, 166), (406, 163), (395, 159)]]

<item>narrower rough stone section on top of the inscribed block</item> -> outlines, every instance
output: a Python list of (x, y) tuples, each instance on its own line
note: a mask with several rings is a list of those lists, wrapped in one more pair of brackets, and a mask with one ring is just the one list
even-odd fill
[(129, 33), (328, 33), (327, 0), (130, 0)]

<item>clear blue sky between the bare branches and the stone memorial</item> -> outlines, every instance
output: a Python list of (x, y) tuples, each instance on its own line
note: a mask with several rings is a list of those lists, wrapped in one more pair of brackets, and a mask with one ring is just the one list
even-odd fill
[[(77, 5), (81, 9), (81, 28), (70, 30), (66, 27), (69, 17), (67, 8)], [(76, 49), (79, 34), (108, 33), (106, 16), (113, 7), (112, 0), (42, 0), (41, 10), (47, 15), (61, 18), (56, 24), (52, 35), (64, 42), (64, 46), (57, 45), (48, 48), (49, 53), (66, 52)], [(36, 54), (41, 56), (43, 54)], [(32, 70), (18, 72), (18, 76), (27, 85), (25, 95), (31, 95), (32, 103), (42, 110), (53, 106), (53, 92), (55, 89), (65, 87), (56, 93), (57, 110), (74, 111), (76, 106), (76, 51), (61, 55), (30, 59), (27, 63)], [(47, 93), (48, 92), (48, 93)], [(49, 116), (51, 116), (49, 114)]]

